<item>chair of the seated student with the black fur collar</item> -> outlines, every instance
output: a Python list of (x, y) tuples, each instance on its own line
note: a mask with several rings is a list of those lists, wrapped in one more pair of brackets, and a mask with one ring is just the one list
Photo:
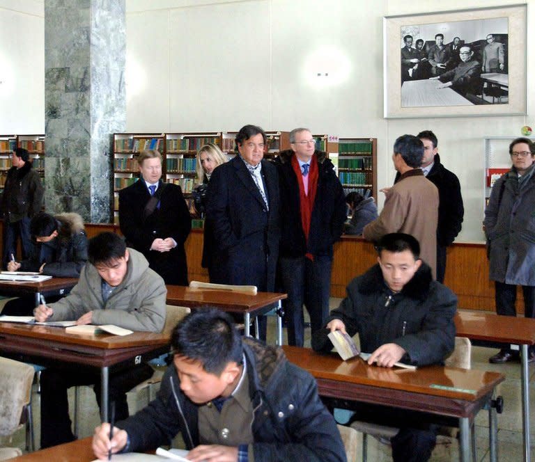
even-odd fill
[[(472, 344), (470, 339), (465, 337), (455, 337), (455, 349), (453, 353), (444, 361), (447, 367), (460, 367), (461, 369), (470, 369), (472, 357)], [(362, 462), (368, 460), (368, 436), (371, 435), (380, 443), (390, 444), (390, 439), (396, 436), (399, 429), (394, 427), (387, 427), (385, 425), (372, 424), (370, 422), (362, 422), (356, 420), (350, 425), (352, 429), (362, 433)], [(453, 431), (451, 431), (453, 430)], [(456, 438), (457, 429), (451, 427), (444, 427), (439, 430), (437, 436), (437, 444), (451, 441), (451, 438)], [(474, 427), (472, 424), (472, 447), (474, 450), (473, 458), (476, 459), (476, 445), (473, 444), (475, 440)], [(460, 449), (460, 447), (459, 447)]]

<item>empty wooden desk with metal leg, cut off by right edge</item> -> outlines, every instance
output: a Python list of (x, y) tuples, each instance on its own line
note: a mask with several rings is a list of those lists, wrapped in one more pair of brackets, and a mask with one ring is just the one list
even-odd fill
[(524, 460), (529, 462), (529, 374), (528, 346), (535, 344), (535, 319), (498, 314), (458, 312), (455, 326), (459, 337), (520, 345), (522, 358), (522, 433)]

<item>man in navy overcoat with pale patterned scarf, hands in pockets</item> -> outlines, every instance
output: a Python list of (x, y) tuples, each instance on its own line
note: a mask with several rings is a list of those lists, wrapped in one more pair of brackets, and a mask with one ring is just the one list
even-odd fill
[[(239, 155), (215, 168), (208, 183), (206, 224), (213, 230), (211, 282), (274, 290), (279, 254), (277, 168), (263, 160), (266, 136), (245, 125), (236, 135)], [(260, 319), (265, 340), (265, 318)]]

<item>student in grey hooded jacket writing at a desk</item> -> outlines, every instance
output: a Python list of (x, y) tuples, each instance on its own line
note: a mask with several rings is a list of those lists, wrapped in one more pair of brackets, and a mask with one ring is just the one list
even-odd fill
[[(130, 330), (161, 332), (165, 321), (164, 280), (146, 258), (127, 248), (118, 234), (103, 232), (89, 240), (88, 263), (72, 292), (51, 305), (39, 305), (37, 321), (77, 319), (77, 324), (115, 324)], [(128, 416), (125, 393), (153, 374), (137, 365), (109, 376), (109, 401), (117, 419)], [(70, 429), (67, 389), (95, 385), (100, 405), (100, 373), (45, 369), (41, 374), (41, 447), (75, 440)]]

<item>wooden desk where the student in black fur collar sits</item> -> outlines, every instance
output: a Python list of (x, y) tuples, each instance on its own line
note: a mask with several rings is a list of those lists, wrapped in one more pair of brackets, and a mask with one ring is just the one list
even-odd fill
[[(469, 461), (470, 424), (476, 414), (490, 402), (504, 374), (456, 367), (429, 366), (410, 371), (369, 366), (360, 358), (342, 361), (335, 353), (320, 355), (311, 349), (283, 346), (286, 357), (307, 370), (318, 382), (323, 397), (362, 401), (371, 404), (456, 417), (460, 428), (463, 461)], [(495, 409), (490, 409), (490, 417)], [(495, 417), (490, 431), (496, 434)], [(490, 438), (495, 442), (495, 438)], [(491, 460), (495, 457), (491, 447)]]

